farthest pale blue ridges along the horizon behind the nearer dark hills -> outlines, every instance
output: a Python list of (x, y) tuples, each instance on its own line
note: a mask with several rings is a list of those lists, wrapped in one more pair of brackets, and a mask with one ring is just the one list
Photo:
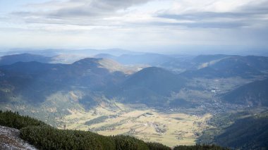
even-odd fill
[[(79, 55), (56, 55), (56, 56), (40, 56), (36, 54), (15, 54), (3, 56), (0, 59), (0, 65), (9, 65), (19, 61), (30, 62), (38, 61), (40, 63), (67, 63), (71, 64), (79, 61), (85, 56)], [(193, 58), (183, 58), (180, 56), (167, 56), (164, 54), (123, 54), (114, 56), (111, 54), (97, 54), (95, 58), (108, 58), (114, 60), (117, 68), (118, 63), (132, 65), (128, 68), (121, 68), (125, 73), (133, 73), (133, 70), (138, 70), (138, 65), (144, 68), (145, 66), (154, 66), (166, 68), (176, 73), (183, 73), (185, 77), (253, 77), (256, 75), (264, 75), (268, 70), (268, 58), (264, 56), (236, 56), (236, 55), (200, 55)], [(117, 64), (115, 62), (118, 62)], [(106, 65), (109, 65), (107, 63)], [(133, 67), (135, 66), (136, 67)], [(113, 68), (110, 67), (109, 68)], [(126, 71), (128, 70), (128, 71)]]

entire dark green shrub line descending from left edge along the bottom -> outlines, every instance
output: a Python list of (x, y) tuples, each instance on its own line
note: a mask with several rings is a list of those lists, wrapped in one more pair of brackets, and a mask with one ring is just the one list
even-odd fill
[[(38, 149), (116, 149), (116, 150), (170, 150), (155, 142), (143, 142), (135, 137), (103, 136), (90, 131), (59, 130), (42, 121), (21, 116), (11, 111), (0, 111), (0, 125), (20, 130), (20, 137)], [(214, 146), (176, 146), (174, 149), (214, 149)], [(216, 149), (217, 148), (217, 149)], [(221, 149), (216, 146), (215, 150)]]

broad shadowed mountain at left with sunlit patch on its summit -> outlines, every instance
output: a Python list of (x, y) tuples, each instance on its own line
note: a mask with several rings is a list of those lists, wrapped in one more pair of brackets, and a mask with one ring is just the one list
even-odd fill
[[(0, 66), (1, 101), (22, 96), (26, 101), (42, 102), (58, 91), (85, 89), (103, 90), (125, 77), (116, 71), (114, 63), (103, 59), (87, 58), (71, 65), (38, 62), (18, 62)], [(103, 65), (104, 64), (104, 65)], [(111, 64), (114, 68), (109, 68)], [(112, 71), (111, 71), (112, 70)]]

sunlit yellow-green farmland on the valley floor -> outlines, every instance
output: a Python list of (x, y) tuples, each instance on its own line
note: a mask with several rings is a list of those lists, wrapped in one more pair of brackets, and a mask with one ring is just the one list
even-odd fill
[[(167, 146), (193, 145), (207, 128), (205, 115), (164, 113), (152, 108), (116, 104), (112, 109), (99, 106), (90, 111), (69, 110), (71, 115), (62, 118), (66, 129), (90, 130), (101, 135), (132, 135), (147, 142), (160, 142)], [(63, 128), (63, 127), (60, 127)]]

